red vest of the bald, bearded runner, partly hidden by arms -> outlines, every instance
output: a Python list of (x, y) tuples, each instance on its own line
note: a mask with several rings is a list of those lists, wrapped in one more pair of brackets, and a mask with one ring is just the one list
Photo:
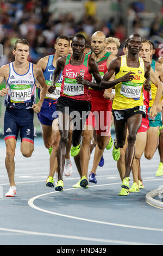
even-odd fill
[[(97, 62), (99, 74), (101, 75), (102, 78), (103, 78), (104, 74), (106, 73), (106, 71), (108, 71), (106, 63), (107, 63), (107, 60), (108, 60), (108, 57), (110, 56), (110, 54), (111, 54), (110, 52), (106, 52), (105, 55)], [(91, 52), (87, 53), (87, 55), (91, 56)], [(92, 82), (96, 83), (94, 77), (92, 77)], [(104, 96), (103, 96), (104, 90), (98, 91), (98, 90), (94, 90), (92, 88), (89, 88), (89, 89), (90, 89), (90, 94), (92, 96), (92, 100), (95, 97), (96, 100), (98, 100), (98, 102), (101, 102), (101, 103), (111, 103), (112, 102), (112, 101), (104, 98)]]

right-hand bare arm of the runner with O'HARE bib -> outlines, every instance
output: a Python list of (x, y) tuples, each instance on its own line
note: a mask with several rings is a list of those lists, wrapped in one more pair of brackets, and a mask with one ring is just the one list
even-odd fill
[(39, 82), (40, 86), (41, 86), (41, 94), (40, 94), (40, 100), (38, 103), (35, 103), (32, 108), (34, 109), (35, 113), (39, 113), (43, 100), (45, 99), (46, 96), (46, 92), (47, 92), (47, 84), (45, 82), (45, 78), (43, 76), (43, 72), (42, 69), (40, 68), (40, 66), (38, 65), (34, 65), (34, 77), (35, 79), (37, 79), (37, 81)]

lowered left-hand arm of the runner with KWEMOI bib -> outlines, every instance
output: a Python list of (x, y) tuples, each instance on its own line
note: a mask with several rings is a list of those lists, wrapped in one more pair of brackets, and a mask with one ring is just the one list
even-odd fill
[(57, 81), (59, 80), (59, 76), (62, 70), (64, 70), (65, 67), (65, 61), (66, 61), (66, 56), (60, 57), (57, 60), (57, 65), (56, 68), (53, 72), (53, 77), (52, 77), (52, 85), (51, 87), (48, 89), (48, 93), (53, 93), (55, 90), (55, 83), (57, 83)]

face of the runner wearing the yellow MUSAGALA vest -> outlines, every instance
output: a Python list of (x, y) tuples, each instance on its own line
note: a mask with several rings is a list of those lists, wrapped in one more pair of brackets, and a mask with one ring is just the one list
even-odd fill
[(141, 41), (142, 39), (140, 36), (136, 36), (136, 35), (130, 36), (128, 41), (128, 51), (134, 55), (139, 53), (142, 47)]

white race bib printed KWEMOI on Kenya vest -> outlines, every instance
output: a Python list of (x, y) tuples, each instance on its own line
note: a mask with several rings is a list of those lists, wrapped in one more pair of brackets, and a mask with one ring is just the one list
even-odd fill
[(78, 84), (75, 79), (65, 78), (64, 92), (68, 96), (77, 96), (84, 94), (84, 85)]

